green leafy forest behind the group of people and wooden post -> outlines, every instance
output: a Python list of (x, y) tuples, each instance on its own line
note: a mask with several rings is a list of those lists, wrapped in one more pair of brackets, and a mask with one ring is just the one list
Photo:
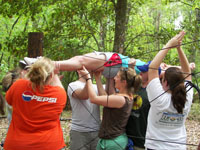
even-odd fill
[[(0, 80), (27, 56), (28, 33), (42, 32), (43, 55), (69, 59), (113, 51), (150, 61), (180, 30), (183, 49), (200, 82), (199, 0), (0, 0)], [(176, 50), (164, 60), (179, 65)], [(76, 80), (64, 72), (65, 88)]]

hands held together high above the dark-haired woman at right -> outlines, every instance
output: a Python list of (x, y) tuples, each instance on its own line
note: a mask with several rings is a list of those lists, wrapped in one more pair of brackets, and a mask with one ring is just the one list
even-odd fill
[(169, 48), (180, 47), (184, 35), (185, 35), (184, 31), (179, 32), (179, 34), (177, 34), (171, 40), (168, 41), (166, 47)]

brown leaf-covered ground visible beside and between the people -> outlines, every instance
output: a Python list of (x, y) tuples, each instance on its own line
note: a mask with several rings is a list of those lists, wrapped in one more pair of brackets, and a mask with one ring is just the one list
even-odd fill
[[(186, 130), (187, 130), (187, 143), (190, 144), (187, 146), (187, 150), (196, 150), (199, 140), (200, 140), (200, 105), (193, 105), (191, 112), (189, 114), (189, 119), (186, 121)], [(64, 111), (61, 117), (61, 125), (65, 137), (65, 142), (67, 147), (66, 150), (69, 150), (69, 130), (70, 130), (70, 119), (71, 112)], [(0, 119), (0, 141), (5, 138), (7, 131), (7, 120)]]

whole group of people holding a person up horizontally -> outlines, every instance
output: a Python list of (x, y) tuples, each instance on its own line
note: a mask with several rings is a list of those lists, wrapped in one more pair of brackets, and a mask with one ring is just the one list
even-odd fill
[[(63, 149), (59, 117), (68, 94), (71, 150), (186, 150), (185, 120), (193, 89), (187, 84), (191, 68), (181, 49), (184, 34), (181, 31), (169, 40), (148, 63), (110, 52), (64, 61), (24, 58), (26, 76), (19, 77), (6, 92), (13, 112), (4, 148)], [(163, 71), (162, 61), (171, 48), (177, 49), (180, 67)], [(67, 94), (59, 71), (78, 74)]]

